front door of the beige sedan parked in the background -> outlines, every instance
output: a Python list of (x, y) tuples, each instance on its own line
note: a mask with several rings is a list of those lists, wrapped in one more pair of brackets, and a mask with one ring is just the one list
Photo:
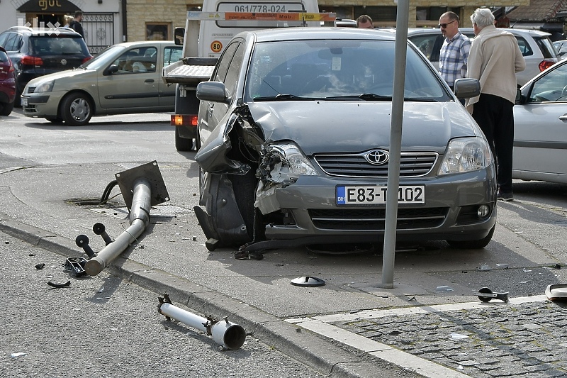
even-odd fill
[(157, 51), (157, 46), (130, 48), (112, 62), (118, 72), (109, 74), (104, 70), (99, 74), (99, 103), (103, 109), (159, 108)]

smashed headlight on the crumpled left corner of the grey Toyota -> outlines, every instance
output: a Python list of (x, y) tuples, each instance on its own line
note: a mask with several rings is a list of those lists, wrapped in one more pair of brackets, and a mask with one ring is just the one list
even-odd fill
[(317, 171), (294, 143), (274, 143), (266, 146), (262, 171), (271, 182), (295, 182), (300, 176), (315, 176)]

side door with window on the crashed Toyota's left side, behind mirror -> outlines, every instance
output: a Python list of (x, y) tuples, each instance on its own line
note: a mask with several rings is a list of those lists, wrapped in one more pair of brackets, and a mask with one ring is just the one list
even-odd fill
[[(228, 45), (221, 55), (211, 80), (223, 82), (227, 95), (232, 101), (235, 99), (235, 91), (240, 78), (240, 68), (244, 59), (244, 43), (241, 40), (234, 40)], [(201, 138), (206, 140), (208, 134), (218, 125), (219, 121), (226, 115), (229, 104), (213, 101), (201, 101), (199, 107), (199, 120), (201, 121)]]

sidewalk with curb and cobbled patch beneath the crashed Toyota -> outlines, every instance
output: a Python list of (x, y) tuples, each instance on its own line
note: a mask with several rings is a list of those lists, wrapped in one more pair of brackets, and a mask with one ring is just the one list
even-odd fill
[[(92, 200), (100, 198), (113, 174), (136, 165), (0, 171), (0, 230), (64, 257), (82, 255), (74, 239), (84, 234), (99, 251), (104, 243), (94, 235), (94, 223), (103, 223), (116, 238), (128, 228), (128, 211), (122, 196), (106, 208)], [(541, 295), (543, 283), (565, 282), (565, 273), (522, 270), (556, 263), (544, 251), (531, 250), (531, 261), (518, 258), (510, 264), (507, 274), (529, 277), (522, 290), (534, 294), (524, 299), (511, 295), (510, 304), (481, 304), (473, 295), (479, 289), (471, 283), (473, 274), (463, 274), (466, 281), (430, 272), (442, 256), (435, 246), (400, 253), (390, 290), (378, 287), (382, 257), (376, 251), (337, 256), (276, 250), (259, 261), (235, 260), (232, 250), (209, 252), (204, 247), (192, 211), (196, 169), (162, 163), (159, 168), (172, 200), (152, 209), (145, 233), (106, 268), (113, 274), (167, 293), (174, 304), (196, 313), (228, 316), (254, 338), (330, 377), (567, 376), (567, 358), (561, 353), (567, 346), (567, 310)], [(522, 240), (515, 245), (532, 248)], [(444, 260), (443, 268), (456, 276), (463, 266), (472, 270), (480, 261), (470, 253), (454, 257)], [(483, 258), (492, 265), (501, 262)], [(305, 276), (323, 279), (325, 286), (290, 284)], [(482, 279), (498, 291), (502, 277), (495, 272)], [(452, 290), (440, 293), (440, 286)], [(448, 305), (452, 307), (439, 307)]]

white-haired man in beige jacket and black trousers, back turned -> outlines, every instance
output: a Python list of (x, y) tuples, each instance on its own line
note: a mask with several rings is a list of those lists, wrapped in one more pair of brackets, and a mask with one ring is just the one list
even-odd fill
[(512, 201), (516, 72), (523, 71), (526, 62), (514, 35), (495, 28), (490, 9), (476, 9), (471, 21), (476, 37), (468, 55), (466, 77), (481, 82), (481, 95), (468, 99), (465, 106), (496, 157), (498, 199)]

